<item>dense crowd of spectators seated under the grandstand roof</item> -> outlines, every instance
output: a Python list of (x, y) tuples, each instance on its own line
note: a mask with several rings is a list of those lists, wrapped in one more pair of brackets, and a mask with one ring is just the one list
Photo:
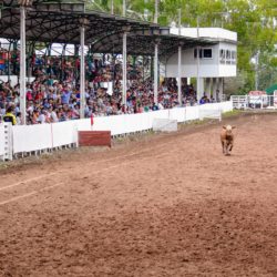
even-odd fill
[[(27, 123), (51, 123), (80, 119), (79, 59), (35, 58), (32, 75), (27, 84)], [(126, 105), (122, 104), (121, 62), (86, 61), (85, 117), (143, 113), (181, 105), (195, 105), (192, 85), (182, 85), (183, 102), (178, 103), (177, 82), (167, 79), (158, 88), (158, 103), (154, 103), (151, 78), (144, 79), (143, 65), (127, 63)], [(201, 100), (208, 102), (207, 98)], [(9, 82), (0, 84), (0, 120), (9, 107), (22, 122), (20, 88)]]

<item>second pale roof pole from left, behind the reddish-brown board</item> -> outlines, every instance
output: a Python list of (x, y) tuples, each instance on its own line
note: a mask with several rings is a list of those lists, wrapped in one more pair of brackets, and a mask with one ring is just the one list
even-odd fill
[(84, 75), (84, 27), (80, 28), (81, 41), (81, 62), (80, 62), (80, 119), (84, 119), (84, 109), (85, 109), (85, 75)]

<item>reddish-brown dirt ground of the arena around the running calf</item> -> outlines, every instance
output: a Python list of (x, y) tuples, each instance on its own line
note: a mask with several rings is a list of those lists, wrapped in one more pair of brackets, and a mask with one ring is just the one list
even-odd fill
[(277, 276), (277, 115), (0, 171), (0, 276)]

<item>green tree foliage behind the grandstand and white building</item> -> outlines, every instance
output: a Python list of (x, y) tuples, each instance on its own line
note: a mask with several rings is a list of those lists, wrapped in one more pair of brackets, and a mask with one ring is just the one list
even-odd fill
[[(114, 11), (122, 13), (122, 0), (113, 0)], [(127, 16), (153, 21), (155, 0), (126, 0)], [(111, 11), (111, 0), (91, 0), (90, 7)], [(178, 22), (196, 27), (224, 27), (238, 34), (238, 72), (244, 76), (242, 90), (254, 89), (255, 64), (259, 53), (259, 89), (266, 89), (276, 80), (277, 65), (277, 1), (276, 0), (160, 0), (158, 23)], [(147, 11), (147, 12), (145, 12)], [(145, 14), (147, 17), (145, 17)], [(269, 75), (269, 76), (268, 76)], [(242, 78), (240, 78), (242, 80)]]

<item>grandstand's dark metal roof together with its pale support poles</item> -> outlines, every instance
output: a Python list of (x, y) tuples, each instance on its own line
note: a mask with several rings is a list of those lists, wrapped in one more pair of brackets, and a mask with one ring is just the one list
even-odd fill
[[(27, 6), (28, 7), (24, 7)], [(21, 24), (20, 24), (21, 22)], [(21, 27), (21, 29), (20, 29)], [(25, 27), (25, 28), (24, 28)], [(80, 29), (80, 27), (82, 27)], [(173, 34), (170, 28), (162, 28), (154, 23), (134, 21), (95, 11), (85, 11), (83, 2), (80, 3), (49, 3), (43, 1), (23, 2), (21, 8), (17, 1), (3, 1), (1, 19), (1, 37), (12, 42), (21, 41), (18, 58), (25, 57), (25, 40), (28, 41), (28, 59), (35, 53), (38, 42), (43, 42), (49, 48), (54, 42), (71, 43), (75, 45), (75, 54), (80, 52), (79, 74), (80, 80), (80, 116), (85, 116), (85, 62), (84, 47), (88, 45), (88, 55), (95, 53), (122, 54), (122, 104), (126, 106), (126, 52), (132, 55), (154, 58), (154, 102), (158, 102), (157, 57), (171, 57), (182, 49), (213, 45), (217, 40), (206, 38), (189, 38)], [(21, 30), (21, 32), (20, 32)], [(80, 31), (81, 30), (81, 31)], [(127, 35), (125, 35), (127, 33)], [(21, 35), (21, 37), (20, 37)], [(79, 47), (78, 47), (79, 45)], [(158, 45), (158, 47), (157, 47)], [(125, 47), (125, 50), (123, 49)], [(158, 50), (158, 52), (157, 52)], [(79, 54), (78, 54), (79, 55)], [(64, 58), (64, 53), (61, 59)], [(19, 62), (20, 70), (20, 111), (25, 123), (25, 72), (30, 74), (30, 62), (25, 71), (24, 63)], [(9, 71), (10, 72), (10, 71)], [(31, 79), (30, 79), (31, 80)], [(178, 91), (178, 103), (182, 104), (182, 92)]]

